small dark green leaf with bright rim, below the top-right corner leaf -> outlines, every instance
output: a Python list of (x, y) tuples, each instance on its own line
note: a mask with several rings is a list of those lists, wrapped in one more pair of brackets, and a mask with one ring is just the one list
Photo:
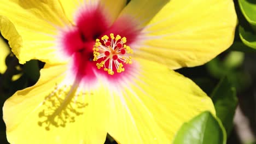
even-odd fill
[(239, 26), (239, 35), (245, 45), (256, 49), (256, 34), (253, 31), (246, 31), (245, 28)]

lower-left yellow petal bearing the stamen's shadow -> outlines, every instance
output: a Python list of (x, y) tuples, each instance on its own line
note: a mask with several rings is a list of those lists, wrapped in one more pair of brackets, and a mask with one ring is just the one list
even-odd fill
[(63, 81), (64, 71), (65, 65), (46, 66), (40, 71), (36, 85), (16, 92), (5, 101), (3, 119), (10, 143), (105, 141), (107, 124), (104, 118), (108, 109), (104, 94), (95, 91), (75, 97), (72, 93), (68, 96), (68, 87), (56, 91), (54, 87)]

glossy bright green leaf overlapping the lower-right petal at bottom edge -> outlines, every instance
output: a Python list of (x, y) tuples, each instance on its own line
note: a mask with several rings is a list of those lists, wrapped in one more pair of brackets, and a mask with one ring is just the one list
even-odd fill
[(216, 144), (226, 143), (225, 129), (218, 119), (208, 111), (184, 123), (174, 137), (173, 144)]

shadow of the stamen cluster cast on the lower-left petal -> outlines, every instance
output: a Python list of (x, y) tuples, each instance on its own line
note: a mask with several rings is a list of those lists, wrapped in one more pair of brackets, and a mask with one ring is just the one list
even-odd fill
[(38, 113), (38, 125), (46, 130), (51, 127), (66, 127), (67, 123), (75, 122), (75, 117), (83, 115), (84, 108), (88, 106), (84, 97), (93, 93), (76, 90), (73, 86), (56, 86), (42, 103), (44, 108)]

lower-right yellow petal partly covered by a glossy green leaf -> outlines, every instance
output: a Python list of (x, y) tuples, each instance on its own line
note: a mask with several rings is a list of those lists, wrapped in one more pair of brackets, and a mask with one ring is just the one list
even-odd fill
[(165, 65), (136, 59), (138, 74), (114, 93), (108, 133), (120, 143), (171, 143), (184, 122), (209, 110), (211, 99)]

